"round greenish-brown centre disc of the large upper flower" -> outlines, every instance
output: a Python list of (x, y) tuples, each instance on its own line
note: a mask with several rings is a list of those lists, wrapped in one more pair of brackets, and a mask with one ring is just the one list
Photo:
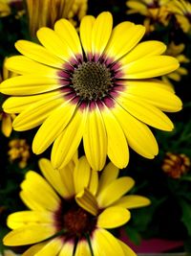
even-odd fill
[(112, 86), (110, 70), (99, 62), (83, 62), (72, 78), (76, 94), (83, 100), (97, 100), (105, 97)]

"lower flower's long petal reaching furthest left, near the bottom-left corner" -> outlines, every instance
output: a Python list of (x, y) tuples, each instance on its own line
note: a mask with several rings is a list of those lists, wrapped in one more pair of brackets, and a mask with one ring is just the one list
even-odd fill
[(12, 230), (4, 237), (3, 243), (9, 246), (34, 244), (52, 237), (56, 232), (50, 224), (32, 224)]

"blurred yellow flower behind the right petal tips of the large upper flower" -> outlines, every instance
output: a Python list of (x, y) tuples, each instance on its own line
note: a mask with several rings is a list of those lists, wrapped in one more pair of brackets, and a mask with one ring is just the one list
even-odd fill
[[(168, 47), (167, 50), (165, 52), (166, 55), (172, 56), (174, 58), (177, 58), (180, 62), (180, 64), (182, 63), (188, 63), (190, 60), (189, 58), (186, 58), (182, 52), (185, 48), (185, 45), (183, 43), (180, 44), (175, 44), (174, 42), (171, 42)], [(180, 81), (181, 76), (183, 75), (187, 75), (188, 71), (186, 68), (180, 66), (178, 69), (176, 69), (174, 72), (169, 73), (165, 76), (162, 76), (162, 80), (166, 81), (168, 83), (171, 83), (169, 81), (169, 79), (173, 80), (173, 81)]]

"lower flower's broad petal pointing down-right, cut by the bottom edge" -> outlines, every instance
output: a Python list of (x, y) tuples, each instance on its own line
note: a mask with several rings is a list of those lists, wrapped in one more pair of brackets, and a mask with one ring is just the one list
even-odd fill
[(94, 256), (126, 256), (117, 239), (107, 230), (96, 229), (91, 239)]

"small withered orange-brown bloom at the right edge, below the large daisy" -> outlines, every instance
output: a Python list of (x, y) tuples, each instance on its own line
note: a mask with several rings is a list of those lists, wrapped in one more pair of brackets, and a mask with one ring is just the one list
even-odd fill
[(172, 153), (167, 152), (161, 169), (167, 175), (173, 178), (180, 178), (181, 175), (185, 175), (191, 168), (190, 158), (184, 153)]

